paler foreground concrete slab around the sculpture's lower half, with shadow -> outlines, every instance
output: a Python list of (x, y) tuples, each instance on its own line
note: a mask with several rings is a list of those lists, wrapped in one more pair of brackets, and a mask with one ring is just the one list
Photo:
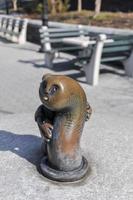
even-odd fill
[(33, 113), (0, 121), (1, 200), (132, 200), (133, 123), (95, 113), (84, 128), (81, 146), (91, 166), (77, 183), (49, 181), (38, 172), (41, 139)]

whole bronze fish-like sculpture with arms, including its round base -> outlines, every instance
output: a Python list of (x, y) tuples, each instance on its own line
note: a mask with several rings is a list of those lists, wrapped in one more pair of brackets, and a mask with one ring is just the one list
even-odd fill
[(43, 138), (42, 173), (56, 181), (76, 181), (88, 172), (80, 138), (91, 114), (84, 90), (75, 80), (46, 74), (39, 88), (42, 105), (35, 120)]

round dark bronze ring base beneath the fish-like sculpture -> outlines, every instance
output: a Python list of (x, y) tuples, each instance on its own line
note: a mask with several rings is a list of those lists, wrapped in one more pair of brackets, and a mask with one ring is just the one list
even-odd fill
[(52, 168), (49, 163), (48, 159), (45, 156), (41, 160), (40, 164), (42, 173), (45, 177), (59, 182), (74, 182), (82, 179), (86, 176), (86, 174), (89, 172), (89, 165), (88, 161), (85, 157), (82, 157), (82, 163), (78, 169), (75, 169), (73, 171), (59, 171), (54, 168)]

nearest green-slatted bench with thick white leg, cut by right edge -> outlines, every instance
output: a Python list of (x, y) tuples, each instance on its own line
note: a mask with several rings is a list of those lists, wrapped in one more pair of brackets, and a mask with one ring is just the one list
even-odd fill
[(112, 36), (112, 39), (113, 42), (104, 42), (103, 48), (99, 48), (98, 42), (91, 55), (79, 57), (78, 62), (84, 68), (86, 80), (91, 85), (98, 84), (100, 64), (121, 62), (125, 74), (133, 77), (133, 35)]

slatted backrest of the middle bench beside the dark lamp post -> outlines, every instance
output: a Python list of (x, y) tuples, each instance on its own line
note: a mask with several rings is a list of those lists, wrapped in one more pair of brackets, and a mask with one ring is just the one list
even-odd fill
[(88, 35), (88, 32), (83, 30), (80, 25), (69, 29), (41, 27), (39, 31), (41, 44), (44, 46), (45, 51), (47, 51), (48, 43), (49, 46), (51, 46), (51, 49), (57, 49), (58, 51), (74, 51), (82, 49), (82, 47), (78, 45), (65, 44), (63, 39)]

